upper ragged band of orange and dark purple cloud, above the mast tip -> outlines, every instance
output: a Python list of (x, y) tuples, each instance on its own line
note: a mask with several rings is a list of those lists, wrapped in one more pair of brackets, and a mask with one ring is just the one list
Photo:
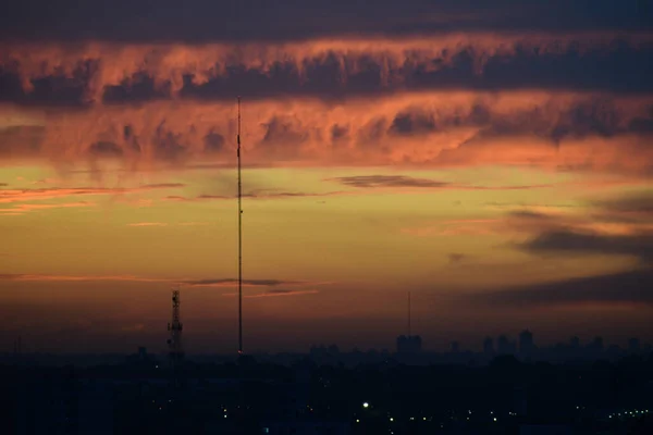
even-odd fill
[(0, 42), (0, 101), (24, 105), (320, 98), (415, 90), (651, 92), (653, 34), (447, 34), (294, 42)]

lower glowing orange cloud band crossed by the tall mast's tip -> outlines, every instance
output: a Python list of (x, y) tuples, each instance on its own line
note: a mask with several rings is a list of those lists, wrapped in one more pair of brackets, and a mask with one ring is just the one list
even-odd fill
[[(517, 164), (637, 176), (653, 169), (645, 133), (645, 123), (653, 125), (650, 108), (645, 97), (605, 100), (526, 90), (402, 94), (338, 104), (251, 101), (244, 113), (243, 158), (255, 166)], [(38, 133), (0, 132), (0, 150), (11, 151), (13, 159), (95, 162), (97, 167), (110, 156), (130, 171), (199, 161), (227, 165), (235, 160), (230, 145), (234, 109), (232, 103), (158, 101), (37, 111), (45, 126)], [(25, 140), (35, 145), (26, 148)]]

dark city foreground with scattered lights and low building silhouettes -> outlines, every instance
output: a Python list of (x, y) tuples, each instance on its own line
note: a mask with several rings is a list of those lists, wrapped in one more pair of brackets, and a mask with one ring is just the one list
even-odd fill
[(652, 434), (653, 352), (597, 337), (482, 352), (1, 356), (3, 434)]

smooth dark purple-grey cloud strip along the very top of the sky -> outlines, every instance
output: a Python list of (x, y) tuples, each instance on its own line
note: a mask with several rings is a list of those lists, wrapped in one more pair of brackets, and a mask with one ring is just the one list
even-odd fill
[(24, 0), (4, 7), (0, 38), (59, 40), (296, 40), (352, 34), (650, 29), (650, 2), (429, 0)]

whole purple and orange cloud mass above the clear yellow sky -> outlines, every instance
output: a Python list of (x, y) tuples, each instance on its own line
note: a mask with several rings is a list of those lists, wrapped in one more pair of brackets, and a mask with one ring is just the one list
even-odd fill
[(243, 96), (248, 165), (652, 171), (641, 2), (29, 1), (0, 32), (0, 160), (230, 164)]

